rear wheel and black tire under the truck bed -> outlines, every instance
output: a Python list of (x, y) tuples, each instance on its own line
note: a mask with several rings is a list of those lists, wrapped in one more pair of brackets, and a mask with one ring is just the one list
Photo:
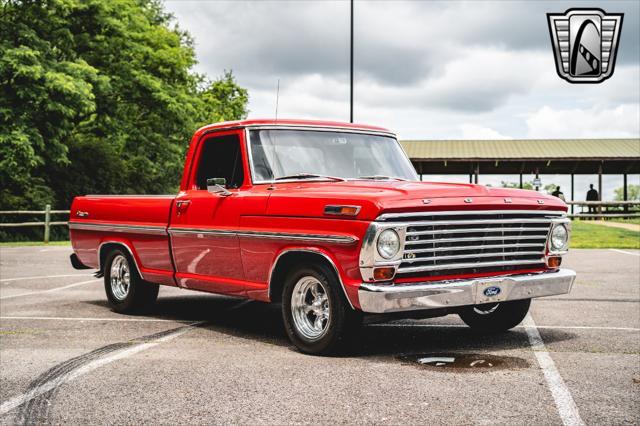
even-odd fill
[(129, 253), (115, 248), (107, 254), (104, 265), (104, 289), (114, 311), (130, 314), (151, 308), (159, 286), (142, 279)]

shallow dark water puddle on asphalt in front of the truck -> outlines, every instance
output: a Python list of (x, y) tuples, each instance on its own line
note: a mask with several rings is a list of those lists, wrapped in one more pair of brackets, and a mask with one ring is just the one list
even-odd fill
[(488, 371), (529, 366), (522, 358), (489, 354), (411, 354), (401, 355), (398, 359), (430, 370), (443, 371)]

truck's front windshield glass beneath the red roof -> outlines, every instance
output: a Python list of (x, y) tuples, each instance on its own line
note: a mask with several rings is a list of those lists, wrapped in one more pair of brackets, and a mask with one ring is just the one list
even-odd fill
[(278, 179), (417, 180), (397, 140), (340, 131), (252, 130), (254, 183)]

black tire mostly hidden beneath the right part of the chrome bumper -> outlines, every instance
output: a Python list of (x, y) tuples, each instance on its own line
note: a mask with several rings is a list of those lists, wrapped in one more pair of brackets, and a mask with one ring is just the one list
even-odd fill
[(458, 313), (462, 321), (474, 330), (499, 333), (520, 324), (529, 312), (531, 299), (490, 303), (465, 307)]

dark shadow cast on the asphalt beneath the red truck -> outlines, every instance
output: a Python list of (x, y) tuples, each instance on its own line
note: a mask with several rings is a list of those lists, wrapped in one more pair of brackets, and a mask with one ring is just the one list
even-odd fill
[[(91, 303), (108, 309), (106, 302)], [(281, 306), (276, 304), (217, 295), (161, 297), (145, 317), (204, 321), (199, 328), (295, 350), (284, 331)], [(575, 334), (561, 330), (546, 329), (544, 332), (545, 343), (575, 337)], [(530, 343), (523, 328), (501, 334), (479, 334), (461, 327), (457, 317), (450, 316), (444, 320), (365, 325), (348, 342), (342, 356), (366, 358), (419, 352), (493, 352), (528, 348)]]

